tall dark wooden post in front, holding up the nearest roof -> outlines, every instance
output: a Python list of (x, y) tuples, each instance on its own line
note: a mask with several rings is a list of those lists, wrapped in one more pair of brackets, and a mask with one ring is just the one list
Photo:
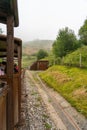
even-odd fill
[(7, 17), (7, 81), (9, 85), (7, 130), (14, 130), (13, 104), (13, 68), (14, 68), (14, 17)]

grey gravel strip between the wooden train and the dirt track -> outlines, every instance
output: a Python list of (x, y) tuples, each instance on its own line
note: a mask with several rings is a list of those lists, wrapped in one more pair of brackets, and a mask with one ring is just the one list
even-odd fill
[(35, 84), (27, 73), (22, 81), (21, 117), (23, 123), (19, 130), (57, 130)]

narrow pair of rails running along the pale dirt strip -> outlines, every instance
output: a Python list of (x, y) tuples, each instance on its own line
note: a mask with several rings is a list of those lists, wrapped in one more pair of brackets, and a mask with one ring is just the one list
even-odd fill
[(46, 89), (46, 86), (43, 84), (41, 79), (38, 77), (41, 85), (44, 87), (44, 90), (46, 93), (48, 93), (49, 98), (52, 101), (52, 105), (54, 106), (57, 114), (59, 114), (60, 118), (62, 118), (65, 126), (67, 127), (68, 130), (81, 130), (77, 123), (74, 121), (74, 119), (64, 110), (64, 108), (60, 105), (58, 100), (52, 93), (49, 92), (48, 89)]

